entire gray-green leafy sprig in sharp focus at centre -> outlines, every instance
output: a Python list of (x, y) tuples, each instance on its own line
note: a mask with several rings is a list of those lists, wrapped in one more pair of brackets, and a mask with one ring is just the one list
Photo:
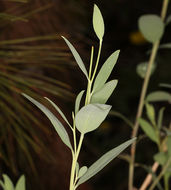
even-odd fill
[[(118, 82), (117, 80), (111, 80), (107, 82), (107, 80), (117, 62), (117, 59), (119, 56), (119, 50), (115, 51), (105, 61), (105, 63), (102, 65), (99, 73), (96, 76), (97, 67), (98, 67), (98, 63), (100, 59), (102, 41), (103, 41), (103, 36), (104, 36), (104, 30), (105, 30), (103, 17), (97, 5), (94, 5), (93, 28), (100, 43), (99, 43), (97, 61), (96, 61), (93, 71), (92, 71), (93, 51), (91, 52), (89, 73), (87, 72), (87, 69), (84, 63), (80, 55), (74, 48), (74, 46), (65, 37), (63, 37), (66, 44), (70, 48), (76, 60), (76, 63), (78, 64), (78, 66), (80, 67), (81, 71), (84, 73), (88, 81), (86, 97), (85, 97), (85, 105), (81, 106), (81, 102), (82, 102), (81, 100), (83, 99), (85, 90), (82, 90), (76, 98), (75, 112), (72, 112), (73, 126), (70, 125), (66, 116), (63, 114), (60, 108), (57, 105), (55, 105), (54, 102), (46, 98), (51, 103), (51, 105), (57, 110), (57, 112), (61, 115), (63, 120), (66, 122), (66, 124), (69, 125), (73, 133), (74, 146), (72, 146), (69, 135), (67, 131), (65, 130), (64, 126), (62, 125), (62, 123), (59, 121), (59, 119), (57, 119), (57, 117), (44, 105), (42, 105), (41, 103), (39, 103), (32, 97), (23, 93), (23, 96), (25, 98), (27, 98), (34, 105), (36, 105), (48, 117), (48, 119), (51, 121), (52, 125), (54, 126), (61, 140), (71, 150), (73, 162), (72, 162), (72, 167), (71, 167), (70, 190), (73, 190), (73, 189), (75, 190), (80, 184), (87, 181), (89, 178), (91, 178), (96, 173), (98, 173), (110, 161), (112, 161), (116, 156), (118, 156), (118, 154), (120, 154), (125, 148), (127, 148), (133, 141), (135, 141), (135, 138), (128, 140), (125, 143), (121, 144), (120, 146), (104, 154), (100, 159), (98, 159), (90, 167), (83, 166), (79, 169), (78, 156), (81, 150), (84, 136), (88, 132), (91, 132), (97, 129), (107, 117), (112, 106), (107, 105), (106, 101), (111, 96)], [(80, 132), (79, 142), (77, 142), (77, 138), (76, 138), (77, 131)]]

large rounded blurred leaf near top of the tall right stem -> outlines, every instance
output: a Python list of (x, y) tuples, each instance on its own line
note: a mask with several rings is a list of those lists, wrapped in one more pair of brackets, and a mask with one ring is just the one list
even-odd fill
[(164, 33), (164, 23), (157, 15), (143, 15), (138, 20), (138, 26), (144, 38), (151, 43), (160, 40)]

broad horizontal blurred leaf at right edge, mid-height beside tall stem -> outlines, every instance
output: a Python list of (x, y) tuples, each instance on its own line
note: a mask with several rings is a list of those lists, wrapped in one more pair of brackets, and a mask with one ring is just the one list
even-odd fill
[(171, 102), (171, 94), (164, 91), (155, 91), (150, 93), (146, 100), (148, 102), (160, 102), (160, 101), (168, 101)]

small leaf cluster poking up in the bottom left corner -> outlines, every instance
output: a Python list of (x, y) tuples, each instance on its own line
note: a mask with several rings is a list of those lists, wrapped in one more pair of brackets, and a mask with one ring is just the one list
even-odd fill
[(3, 176), (3, 181), (0, 180), (0, 185), (3, 190), (25, 190), (26, 189), (24, 175), (22, 175), (18, 179), (16, 186), (13, 184), (11, 179), (6, 174), (3, 174), (2, 176)]

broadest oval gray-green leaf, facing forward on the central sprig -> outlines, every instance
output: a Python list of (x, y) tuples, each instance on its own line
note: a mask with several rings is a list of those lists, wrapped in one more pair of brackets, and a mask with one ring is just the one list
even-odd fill
[(88, 104), (80, 109), (75, 116), (76, 128), (80, 133), (88, 133), (95, 130), (104, 121), (111, 109), (106, 104)]

